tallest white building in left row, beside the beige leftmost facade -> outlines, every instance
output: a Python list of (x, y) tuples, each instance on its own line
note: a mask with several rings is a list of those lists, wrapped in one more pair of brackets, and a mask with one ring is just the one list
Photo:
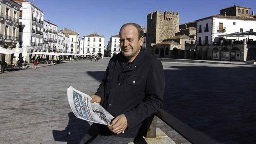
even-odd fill
[(33, 50), (41, 50), (43, 46), (44, 12), (29, 1), (14, 1), (22, 6), (19, 16), (19, 25), (22, 27), (19, 32), (20, 44)]

